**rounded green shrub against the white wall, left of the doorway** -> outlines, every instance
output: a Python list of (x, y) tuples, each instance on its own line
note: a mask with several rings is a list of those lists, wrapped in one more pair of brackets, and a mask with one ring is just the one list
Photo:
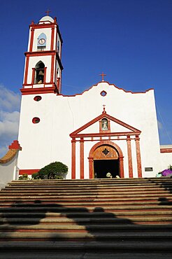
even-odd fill
[(52, 162), (38, 173), (32, 174), (32, 179), (64, 179), (68, 167), (62, 162)]

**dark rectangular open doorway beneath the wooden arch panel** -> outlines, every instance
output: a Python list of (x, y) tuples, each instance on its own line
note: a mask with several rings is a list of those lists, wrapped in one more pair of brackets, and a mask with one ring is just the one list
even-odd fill
[(119, 160), (94, 160), (94, 178), (107, 178), (108, 172), (113, 178), (120, 176)]

